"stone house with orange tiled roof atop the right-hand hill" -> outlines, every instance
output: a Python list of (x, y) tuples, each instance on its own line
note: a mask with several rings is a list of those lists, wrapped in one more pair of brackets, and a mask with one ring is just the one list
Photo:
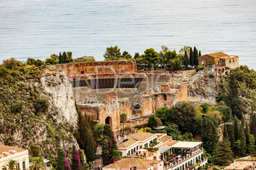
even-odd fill
[(199, 56), (199, 66), (201, 65), (212, 65), (215, 64), (217, 67), (229, 67), (235, 69), (239, 67), (239, 57), (234, 55), (226, 55), (225, 53), (211, 53), (208, 55)]

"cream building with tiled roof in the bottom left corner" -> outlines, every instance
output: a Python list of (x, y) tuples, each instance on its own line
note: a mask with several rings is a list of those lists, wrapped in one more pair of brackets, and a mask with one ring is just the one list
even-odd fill
[(6, 162), (11, 159), (17, 161), (17, 169), (29, 169), (29, 150), (0, 145), (0, 169), (3, 169)]

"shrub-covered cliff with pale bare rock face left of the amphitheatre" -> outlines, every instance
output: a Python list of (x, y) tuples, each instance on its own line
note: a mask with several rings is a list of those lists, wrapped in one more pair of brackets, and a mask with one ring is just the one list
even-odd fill
[(72, 134), (78, 115), (68, 77), (63, 72), (22, 77), (0, 82), (0, 144), (29, 150), (39, 145), (50, 160), (59, 147), (79, 148)]

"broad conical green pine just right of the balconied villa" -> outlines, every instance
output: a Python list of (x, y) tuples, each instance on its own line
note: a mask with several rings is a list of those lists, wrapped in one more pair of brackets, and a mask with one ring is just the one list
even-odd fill
[(218, 146), (213, 152), (211, 157), (213, 164), (223, 165), (230, 164), (233, 161), (232, 151), (229, 147), (229, 142), (227, 140), (222, 140), (218, 142)]

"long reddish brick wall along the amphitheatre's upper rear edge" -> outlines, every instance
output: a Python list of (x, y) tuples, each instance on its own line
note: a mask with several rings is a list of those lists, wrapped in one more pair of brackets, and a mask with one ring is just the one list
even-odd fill
[(86, 74), (108, 74), (125, 73), (137, 70), (135, 60), (119, 60), (108, 62), (80, 62), (54, 65), (56, 69), (64, 71), (68, 76), (86, 75)]

